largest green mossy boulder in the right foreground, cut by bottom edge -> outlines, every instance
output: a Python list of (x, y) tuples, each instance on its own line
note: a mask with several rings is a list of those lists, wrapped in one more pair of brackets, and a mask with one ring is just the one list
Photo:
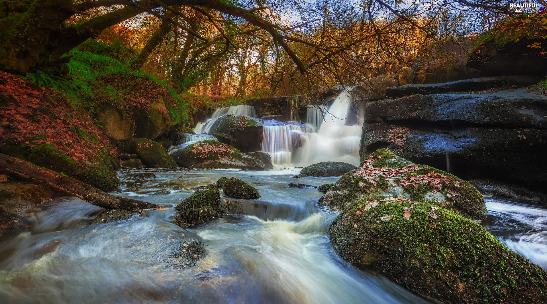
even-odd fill
[(365, 197), (333, 221), (342, 259), (444, 303), (547, 301), (547, 272), (485, 228), (429, 203), (385, 199)]

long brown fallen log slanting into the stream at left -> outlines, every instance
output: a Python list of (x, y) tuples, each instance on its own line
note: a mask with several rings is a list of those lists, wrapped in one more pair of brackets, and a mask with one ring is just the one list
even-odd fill
[(102, 192), (85, 182), (81, 182), (46, 168), (38, 167), (25, 160), (2, 153), (0, 153), (0, 171), (6, 171), (24, 177), (25, 179), (45, 183), (55, 190), (72, 194), (90, 204), (106, 209), (138, 211), (142, 209), (156, 209), (159, 207), (153, 203), (113, 196), (106, 192)]

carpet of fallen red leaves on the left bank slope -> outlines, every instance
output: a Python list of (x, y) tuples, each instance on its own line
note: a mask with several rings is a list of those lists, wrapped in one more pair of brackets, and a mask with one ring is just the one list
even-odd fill
[(0, 145), (48, 143), (77, 162), (96, 162), (100, 151), (117, 155), (90, 114), (54, 89), (0, 71), (0, 97)]

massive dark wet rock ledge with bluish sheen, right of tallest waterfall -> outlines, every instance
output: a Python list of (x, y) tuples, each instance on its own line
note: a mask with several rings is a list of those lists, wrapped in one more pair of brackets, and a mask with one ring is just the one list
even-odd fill
[[(368, 102), (362, 161), (389, 148), (463, 178), (542, 190), (547, 183), (547, 96), (526, 90), (433, 94)], [(448, 161), (447, 161), (448, 160)]]

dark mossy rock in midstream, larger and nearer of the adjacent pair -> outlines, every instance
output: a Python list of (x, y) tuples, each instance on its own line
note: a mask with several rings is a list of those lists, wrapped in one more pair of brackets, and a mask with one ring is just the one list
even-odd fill
[(174, 222), (181, 227), (218, 219), (224, 214), (217, 187), (194, 192), (179, 203), (174, 210), (178, 212)]

